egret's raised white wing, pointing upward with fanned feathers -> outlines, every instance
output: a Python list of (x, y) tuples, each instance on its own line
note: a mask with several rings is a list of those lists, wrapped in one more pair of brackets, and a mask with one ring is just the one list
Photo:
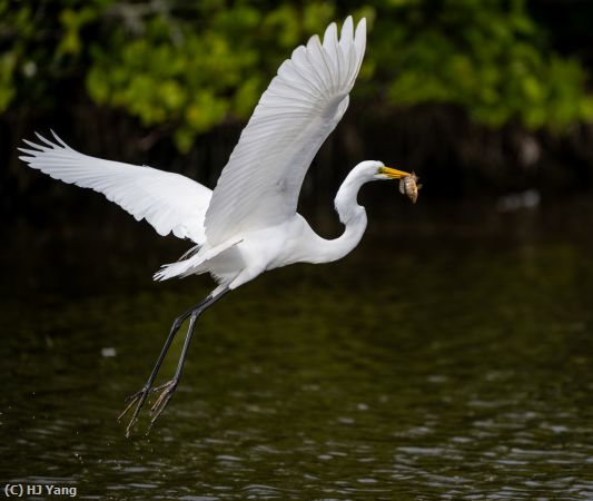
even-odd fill
[(206, 212), (208, 245), (273, 226), (296, 213), (313, 157), (348, 107), (366, 47), (363, 19), (335, 23), (284, 61), (230, 155)]

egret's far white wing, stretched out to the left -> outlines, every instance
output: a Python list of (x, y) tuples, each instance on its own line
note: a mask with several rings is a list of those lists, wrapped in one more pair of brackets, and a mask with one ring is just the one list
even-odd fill
[(32, 149), (19, 148), (26, 154), (19, 158), (33, 169), (102, 193), (137, 220), (146, 219), (159, 235), (172, 232), (179, 238), (204, 243), (210, 189), (179, 174), (83, 155), (56, 134), (56, 143), (37, 137), (42, 144), (24, 140)]

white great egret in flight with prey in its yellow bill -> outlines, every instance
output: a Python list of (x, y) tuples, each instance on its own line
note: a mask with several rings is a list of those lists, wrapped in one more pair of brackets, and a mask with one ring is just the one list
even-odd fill
[[(329, 263), (348, 254), (366, 228), (365, 209), (356, 200), (365, 183), (407, 179), (401, 188), (415, 202), (415, 176), (368, 160), (354, 167), (336, 195), (335, 207), (345, 226), (339, 238), (322, 238), (296, 212), (309, 164), (348, 107), (365, 46), (365, 19), (354, 32), (348, 17), (339, 40), (332, 23), (323, 42), (315, 36), (306, 47), (297, 47), (261, 96), (214, 191), (178, 174), (80, 154), (53, 132), (55, 141), (37, 134), (41, 144), (26, 140), (32, 149), (20, 148), (26, 154), (20, 158), (30, 167), (102, 193), (136, 219), (146, 219), (159, 235), (172, 232), (196, 244), (180, 261), (162, 266), (155, 279), (209, 273), (218, 282), (206, 299), (175, 320), (148, 381), (126, 400), (119, 418), (136, 405), (127, 436), (151, 391), (160, 394), (151, 406), (150, 426), (170, 401), (196, 321), (205, 310), (268, 269)], [(175, 375), (154, 387), (162, 360), (187, 318)]]

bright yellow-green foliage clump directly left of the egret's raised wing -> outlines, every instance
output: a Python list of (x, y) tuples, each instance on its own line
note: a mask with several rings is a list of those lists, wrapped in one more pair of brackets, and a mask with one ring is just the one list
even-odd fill
[(139, 18), (137, 37), (120, 26), (110, 43), (92, 45), (87, 89), (97, 102), (122, 107), (145, 126), (168, 124), (186, 151), (197, 134), (229, 117), (246, 120), (287, 51), (333, 14), (322, 2), (265, 13), (217, 2), (169, 16), (151, 12)]

